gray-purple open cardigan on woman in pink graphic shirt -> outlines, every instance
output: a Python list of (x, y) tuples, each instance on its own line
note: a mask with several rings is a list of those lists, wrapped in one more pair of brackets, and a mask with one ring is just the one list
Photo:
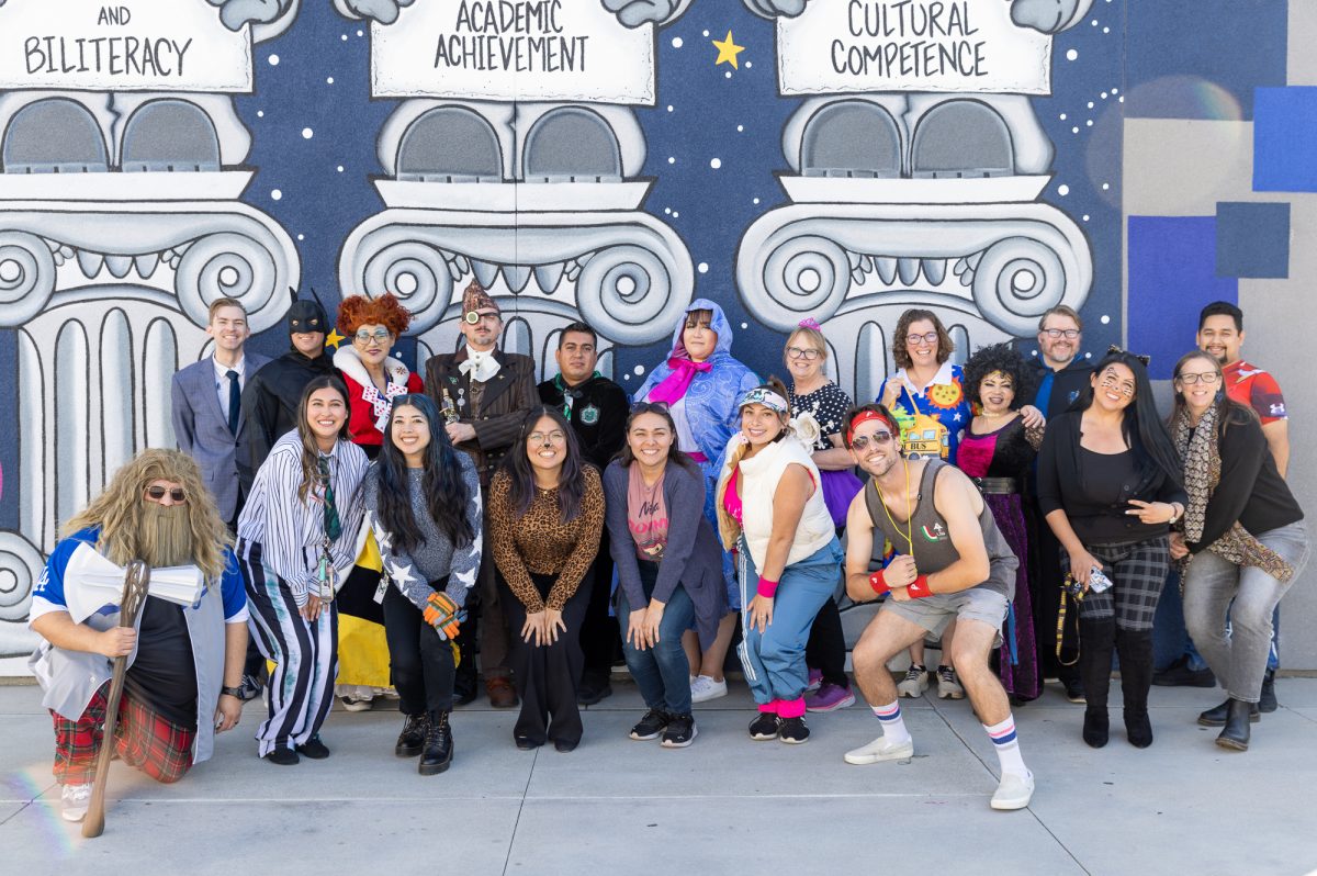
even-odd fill
[[(630, 477), (630, 470), (622, 462), (611, 462), (603, 473), (603, 494), (618, 582), (626, 590), (631, 606), (643, 606), (649, 601), (640, 584), (636, 540), (627, 524)], [(702, 648), (712, 644), (718, 635), (718, 622), (727, 613), (723, 549), (714, 535), (714, 527), (705, 516), (705, 477), (698, 468), (691, 470), (676, 462), (668, 464), (662, 482), (662, 498), (668, 505), (668, 547), (658, 562), (658, 581), (653, 591), (655, 599), (666, 603), (678, 584), (686, 589), (695, 606), (695, 631)], [(626, 624), (623, 618), (618, 620)]]

